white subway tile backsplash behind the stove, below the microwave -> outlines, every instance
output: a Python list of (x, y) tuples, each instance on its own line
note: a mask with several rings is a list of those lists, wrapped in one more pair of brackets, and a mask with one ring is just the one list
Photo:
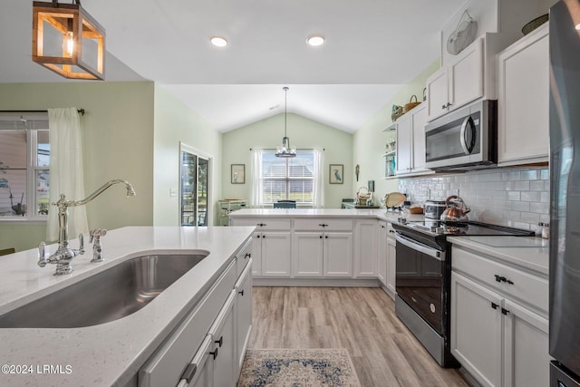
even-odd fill
[(458, 195), (471, 208), (469, 218), (482, 222), (535, 229), (549, 221), (547, 168), (488, 169), (461, 174), (399, 179), (399, 190), (412, 201)]

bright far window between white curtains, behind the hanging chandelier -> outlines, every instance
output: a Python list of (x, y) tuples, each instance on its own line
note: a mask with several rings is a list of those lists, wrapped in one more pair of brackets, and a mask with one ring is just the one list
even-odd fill
[(295, 158), (275, 157), (275, 150), (266, 150), (262, 156), (263, 204), (278, 200), (295, 200), (313, 204), (314, 151), (300, 150)]

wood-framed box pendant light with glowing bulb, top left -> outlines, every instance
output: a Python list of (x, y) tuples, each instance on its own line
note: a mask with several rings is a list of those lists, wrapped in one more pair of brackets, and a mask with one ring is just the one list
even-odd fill
[(105, 30), (73, 2), (33, 2), (33, 61), (64, 78), (103, 80)]

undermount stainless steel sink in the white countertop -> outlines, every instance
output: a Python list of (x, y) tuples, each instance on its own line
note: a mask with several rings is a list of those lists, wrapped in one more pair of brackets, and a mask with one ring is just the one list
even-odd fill
[(0, 328), (75, 328), (120, 319), (148, 305), (206, 256), (131, 258), (0, 315)]

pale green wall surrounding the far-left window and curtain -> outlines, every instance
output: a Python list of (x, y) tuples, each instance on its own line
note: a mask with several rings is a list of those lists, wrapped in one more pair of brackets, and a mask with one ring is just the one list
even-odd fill
[[(136, 197), (126, 198), (125, 189), (118, 185), (87, 204), (89, 227), (153, 223), (152, 82), (1, 84), (0, 106), (5, 111), (84, 109), (86, 195), (116, 178), (129, 180), (137, 192)], [(36, 247), (44, 236), (43, 224), (0, 223), (0, 248)]]

